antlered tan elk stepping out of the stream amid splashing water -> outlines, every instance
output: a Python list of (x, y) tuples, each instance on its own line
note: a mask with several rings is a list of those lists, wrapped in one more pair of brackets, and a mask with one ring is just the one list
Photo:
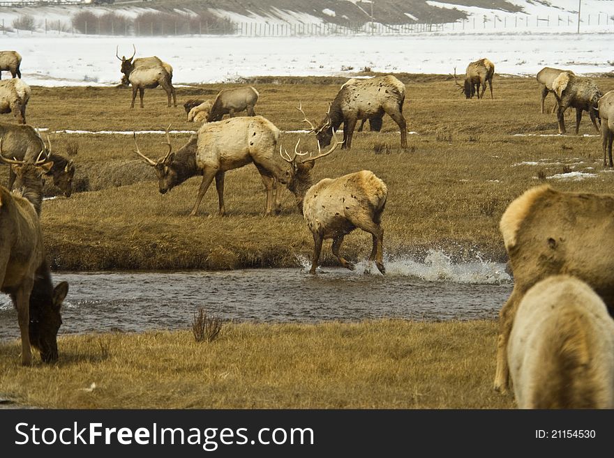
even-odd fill
[(385, 273), (382, 261), (384, 229), (380, 223), (388, 195), (386, 185), (370, 170), (361, 170), (334, 179), (324, 178), (312, 185), (311, 169), (315, 161), (332, 153), (343, 142), (338, 142), (333, 132), (333, 146), (326, 153), (322, 153), (318, 144), (315, 156), (299, 153), (299, 142), (294, 147), (293, 156), (287, 151), (282, 153), (281, 148), (279, 152), (290, 164), (285, 177), (287, 188), (296, 197), (297, 206), (313, 235), (310, 273), (315, 273), (320, 261), (322, 242), (327, 238), (333, 239), (332, 252), (341, 266), (352, 270), (354, 264), (344, 259), (339, 250), (343, 238), (356, 228), (373, 236), (373, 249), (369, 259), (375, 261), (381, 273)]

